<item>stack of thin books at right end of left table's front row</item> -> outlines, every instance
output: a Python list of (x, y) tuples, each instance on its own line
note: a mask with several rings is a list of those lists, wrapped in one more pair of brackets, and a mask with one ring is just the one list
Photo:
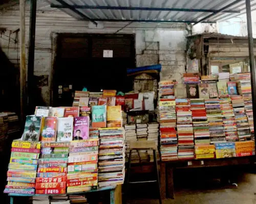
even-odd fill
[(99, 187), (123, 184), (124, 181), (124, 130), (100, 129)]

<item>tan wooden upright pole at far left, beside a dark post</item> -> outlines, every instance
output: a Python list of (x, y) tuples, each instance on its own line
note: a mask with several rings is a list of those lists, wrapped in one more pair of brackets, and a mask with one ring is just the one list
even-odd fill
[(19, 15), (20, 15), (20, 39), (19, 39), (19, 54), (20, 54), (20, 120), (23, 123), (25, 120), (27, 95), (26, 95), (26, 49), (25, 49), (25, 0), (19, 0)]

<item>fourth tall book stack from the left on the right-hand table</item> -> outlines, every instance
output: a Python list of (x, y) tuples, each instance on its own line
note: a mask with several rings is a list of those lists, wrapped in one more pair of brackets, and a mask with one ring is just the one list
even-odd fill
[(226, 141), (219, 99), (205, 99), (205, 108), (209, 124), (210, 144)]

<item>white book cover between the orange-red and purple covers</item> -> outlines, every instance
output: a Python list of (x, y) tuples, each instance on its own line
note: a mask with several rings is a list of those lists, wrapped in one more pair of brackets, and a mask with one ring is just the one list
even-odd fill
[(71, 141), (73, 139), (73, 117), (58, 118), (57, 141)]

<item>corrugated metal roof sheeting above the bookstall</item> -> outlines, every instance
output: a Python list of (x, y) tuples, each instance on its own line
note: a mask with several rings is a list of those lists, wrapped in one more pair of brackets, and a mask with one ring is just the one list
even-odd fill
[[(56, 0), (46, 0), (54, 5), (60, 5)], [(180, 9), (214, 9), (219, 10), (233, 3), (233, 0), (62, 0), (69, 5), (80, 6), (111, 6), (111, 7), (148, 7), (148, 8), (180, 8)], [(256, 10), (256, 0), (251, 0), (252, 11)], [(69, 15), (81, 19), (70, 9), (61, 9)], [(211, 13), (184, 11), (145, 11), (145, 10), (106, 10), (79, 9), (79, 12), (92, 19), (115, 20), (175, 20), (199, 21)], [(240, 1), (228, 10), (241, 13), (219, 13), (207, 21), (222, 21), (246, 13), (245, 1)]]

